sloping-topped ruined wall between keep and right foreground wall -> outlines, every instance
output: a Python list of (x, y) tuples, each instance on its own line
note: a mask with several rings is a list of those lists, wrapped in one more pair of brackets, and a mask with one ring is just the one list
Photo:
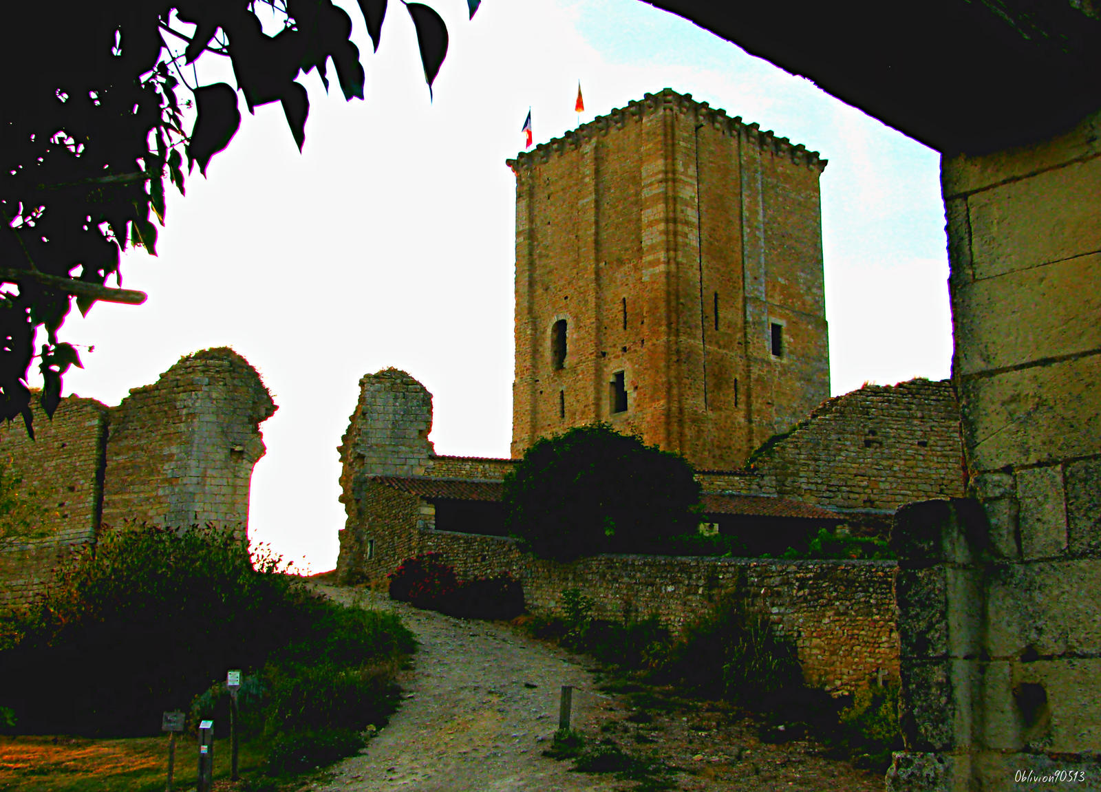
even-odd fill
[(894, 511), (963, 495), (959, 406), (948, 381), (835, 397), (754, 454), (771, 495), (829, 509)]

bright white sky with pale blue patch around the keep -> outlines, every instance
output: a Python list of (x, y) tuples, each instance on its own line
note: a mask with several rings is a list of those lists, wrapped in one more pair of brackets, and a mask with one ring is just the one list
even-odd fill
[[(829, 160), (821, 178), (832, 392), (948, 376), (951, 330), (938, 155), (691, 23), (637, 0), (433, 0), (450, 50), (429, 102), (404, 8), (390, 4), (364, 101), (309, 75), (302, 154), (277, 104), (244, 115), (187, 196), (170, 192), (159, 258), (123, 259), (141, 307), (74, 311), (85, 370), (67, 393), (117, 404), (182, 355), (231, 346), (280, 409), (262, 424), (250, 533), (333, 568), (344, 525), (336, 447), (359, 378), (388, 366), (435, 397), (437, 453), (508, 456), (515, 182), (523, 147), (672, 87)], [(224, 64), (199, 61), (203, 84)], [(330, 72), (330, 78), (335, 77)], [(188, 82), (190, 82), (188, 75)]]

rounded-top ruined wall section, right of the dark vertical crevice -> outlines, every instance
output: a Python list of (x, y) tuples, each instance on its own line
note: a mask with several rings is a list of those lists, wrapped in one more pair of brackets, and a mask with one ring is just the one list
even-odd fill
[(259, 425), (275, 412), (268, 389), (231, 349), (182, 358), (111, 411), (105, 525), (187, 528), (211, 522), (242, 539)]

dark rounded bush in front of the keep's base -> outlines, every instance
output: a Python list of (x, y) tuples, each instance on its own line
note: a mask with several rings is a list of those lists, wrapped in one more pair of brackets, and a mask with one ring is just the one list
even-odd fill
[(541, 557), (661, 552), (699, 523), (684, 457), (604, 423), (541, 437), (504, 478), (505, 524)]

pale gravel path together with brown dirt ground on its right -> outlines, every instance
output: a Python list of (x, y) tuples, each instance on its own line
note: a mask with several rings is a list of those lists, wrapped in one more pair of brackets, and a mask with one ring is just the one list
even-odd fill
[(363, 753), (334, 766), (312, 792), (557, 792), (631, 790), (610, 774), (570, 772), (542, 756), (558, 727), (562, 685), (573, 726), (671, 769), (683, 792), (882, 792), (882, 774), (822, 756), (814, 740), (762, 742), (750, 719), (704, 702), (659, 703), (597, 690), (582, 659), (505, 625), (465, 621), (384, 596), (316, 584), (401, 614), (421, 642), (401, 680), (402, 708)]

